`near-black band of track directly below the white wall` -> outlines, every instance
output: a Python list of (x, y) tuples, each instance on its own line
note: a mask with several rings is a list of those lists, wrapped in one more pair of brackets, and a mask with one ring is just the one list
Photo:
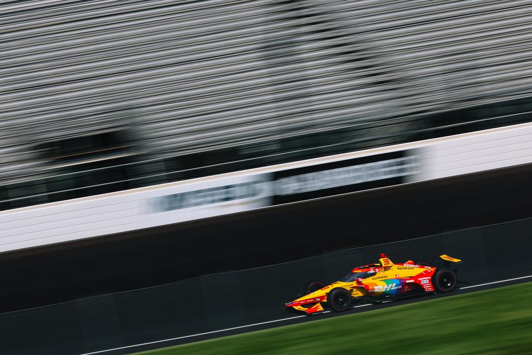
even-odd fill
[(2, 253), (0, 312), (532, 217), (531, 174), (518, 166)]

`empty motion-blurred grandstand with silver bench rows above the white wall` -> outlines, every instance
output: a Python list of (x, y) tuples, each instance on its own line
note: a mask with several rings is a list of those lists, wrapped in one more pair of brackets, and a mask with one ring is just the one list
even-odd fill
[(0, 5), (0, 208), (530, 121), (529, 1)]

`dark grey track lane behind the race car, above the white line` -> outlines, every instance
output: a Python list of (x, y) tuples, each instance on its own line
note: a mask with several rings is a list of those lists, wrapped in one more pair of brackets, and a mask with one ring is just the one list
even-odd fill
[(87, 353), (285, 318), (284, 302), (305, 284), (332, 282), (380, 253), (436, 266), (439, 254), (460, 258), (461, 287), (528, 276), (530, 234), (532, 219), (519, 220), (3, 313), (0, 353)]

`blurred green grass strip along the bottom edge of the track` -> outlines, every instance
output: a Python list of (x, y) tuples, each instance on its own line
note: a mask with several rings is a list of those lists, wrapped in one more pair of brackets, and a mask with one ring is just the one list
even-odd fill
[(142, 354), (530, 354), (531, 298), (529, 282)]

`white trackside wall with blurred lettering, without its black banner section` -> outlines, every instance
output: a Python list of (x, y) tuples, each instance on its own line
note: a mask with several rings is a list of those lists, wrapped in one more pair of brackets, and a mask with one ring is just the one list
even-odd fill
[(394, 151), (406, 182), (530, 163), (532, 123), (2, 211), (0, 252), (267, 207), (271, 172)]

